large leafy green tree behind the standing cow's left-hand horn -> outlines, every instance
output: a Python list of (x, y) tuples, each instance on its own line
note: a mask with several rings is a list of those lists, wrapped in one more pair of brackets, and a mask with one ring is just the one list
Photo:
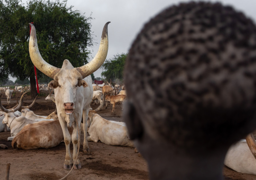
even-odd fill
[[(30, 0), (27, 6), (21, 0), (0, 1), (0, 75), (4, 67), (13, 77), (29, 78), (32, 98), (37, 92), (28, 48), (30, 22), (36, 27), (39, 51), (46, 62), (58, 68), (65, 59), (74, 67), (88, 62), (91, 17), (72, 8), (67, 7), (67, 1)], [(37, 77), (43, 77), (38, 70)]]

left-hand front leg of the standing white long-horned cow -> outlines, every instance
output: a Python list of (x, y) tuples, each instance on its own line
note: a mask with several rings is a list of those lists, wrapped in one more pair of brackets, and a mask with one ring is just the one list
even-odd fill
[(64, 142), (66, 145), (66, 156), (65, 156), (65, 162), (63, 168), (65, 169), (71, 169), (72, 168), (72, 156), (70, 153), (70, 142), (71, 142), (71, 136), (68, 130), (68, 125), (65, 120), (59, 119), (59, 123), (61, 126), (61, 129), (63, 131), (64, 136)]

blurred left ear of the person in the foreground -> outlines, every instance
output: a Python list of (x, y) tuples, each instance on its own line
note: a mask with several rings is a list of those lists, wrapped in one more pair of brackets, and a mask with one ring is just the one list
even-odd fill
[(128, 129), (128, 135), (131, 140), (139, 139), (143, 134), (143, 125), (141, 119), (129, 100), (123, 103), (122, 117)]

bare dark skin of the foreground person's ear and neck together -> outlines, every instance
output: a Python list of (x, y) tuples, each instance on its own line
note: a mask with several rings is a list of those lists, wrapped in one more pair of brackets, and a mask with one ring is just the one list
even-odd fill
[[(129, 136), (149, 165), (150, 179), (223, 179), (222, 169), (229, 145), (216, 147), (211, 153), (198, 154), (197, 148), (177, 149), (164, 137), (153, 139), (143, 125), (133, 103), (125, 102), (124, 121)], [(200, 147), (198, 147), (200, 149)], [(199, 171), (199, 173), (194, 173)]]

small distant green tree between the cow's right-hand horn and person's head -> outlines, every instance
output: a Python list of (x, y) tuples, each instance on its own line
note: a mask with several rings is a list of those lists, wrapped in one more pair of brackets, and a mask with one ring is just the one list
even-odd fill
[(113, 59), (105, 60), (104, 64), (100, 67), (104, 71), (101, 76), (104, 76), (106, 80), (123, 79), (123, 68), (127, 54), (114, 55)]

